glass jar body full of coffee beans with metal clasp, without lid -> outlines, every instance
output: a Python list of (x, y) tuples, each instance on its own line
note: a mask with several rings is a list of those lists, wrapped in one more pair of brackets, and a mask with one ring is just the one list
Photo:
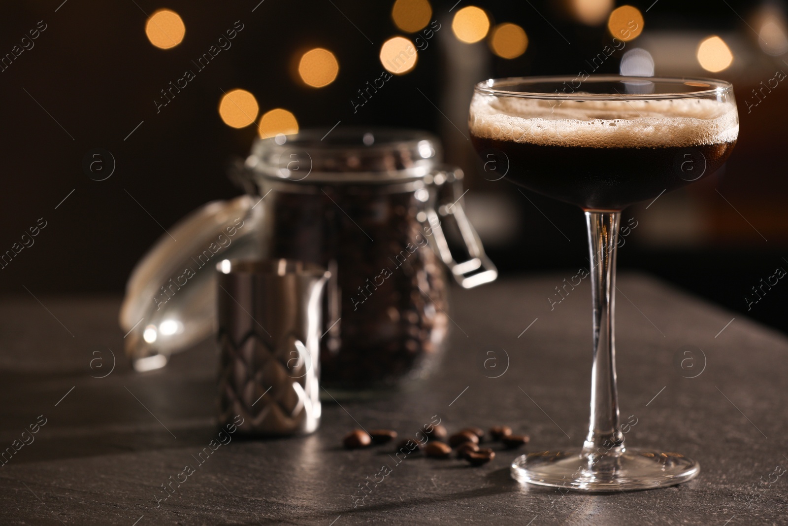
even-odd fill
[[(268, 258), (329, 270), (321, 382), (341, 389), (424, 377), (448, 334), (447, 267), (460, 285), (496, 268), (463, 212), (463, 173), (425, 132), (335, 129), (258, 139), (245, 162)], [(468, 256), (457, 263), (444, 227)]]

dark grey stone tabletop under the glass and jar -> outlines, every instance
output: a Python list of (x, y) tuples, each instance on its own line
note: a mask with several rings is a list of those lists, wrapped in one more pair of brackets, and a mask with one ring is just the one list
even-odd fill
[[(0, 464), (0, 524), (788, 523), (788, 340), (641, 275), (619, 278), (621, 414), (637, 419), (626, 440), (697, 459), (697, 479), (565, 494), (515, 483), (511, 451), (471, 468), (397, 464), (392, 446), (340, 448), (359, 425), (412, 436), (435, 415), (450, 431), (508, 423), (531, 435), (530, 451), (581, 445), (588, 280), (552, 311), (547, 300), (571, 275), (455, 290), (452, 345), (433, 379), (367, 401), (329, 399), (314, 435), (233, 439), (203, 464), (195, 456), (217, 437), (210, 342), (138, 374), (122, 356), (117, 298), (6, 298), (0, 447), (20, 449)], [(38, 432), (23, 434), (31, 426)], [(186, 464), (195, 472), (157, 503)], [(391, 472), (362, 499), (384, 465)]]

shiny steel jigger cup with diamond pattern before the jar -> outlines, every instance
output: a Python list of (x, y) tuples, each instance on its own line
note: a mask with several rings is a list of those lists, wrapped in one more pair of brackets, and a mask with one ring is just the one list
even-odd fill
[(330, 274), (292, 259), (217, 263), (219, 424), (240, 433), (318, 428), (322, 292)]

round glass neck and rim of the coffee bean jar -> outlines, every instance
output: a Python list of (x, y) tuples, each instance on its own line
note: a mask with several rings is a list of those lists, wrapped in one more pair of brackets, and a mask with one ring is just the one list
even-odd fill
[(245, 166), (277, 181), (392, 184), (422, 179), (441, 157), (440, 141), (426, 132), (348, 127), (257, 139)]

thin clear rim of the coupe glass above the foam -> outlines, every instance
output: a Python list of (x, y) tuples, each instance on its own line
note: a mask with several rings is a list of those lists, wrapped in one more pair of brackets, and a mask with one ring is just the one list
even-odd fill
[[(698, 91), (676, 93), (539, 93), (537, 91), (507, 91), (506, 87), (518, 84), (550, 83), (556, 84), (580, 80), (578, 76), (510, 76), (500, 79), (483, 80), (474, 86), (474, 93), (496, 97), (515, 97), (519, 99), (561, 99), (561, 100), (638, 100), (638, 99), (698, 99), (733, 91), (733, 84), (727, 80), (707, 77), (685, 76), (626, 76), (626, 75), (589, 75), (581, 84), (597, 82), (632, 81), (636, 83), (663, 82), (705, 88)], [(692, 83), (692, 84), (690, 84)]]

